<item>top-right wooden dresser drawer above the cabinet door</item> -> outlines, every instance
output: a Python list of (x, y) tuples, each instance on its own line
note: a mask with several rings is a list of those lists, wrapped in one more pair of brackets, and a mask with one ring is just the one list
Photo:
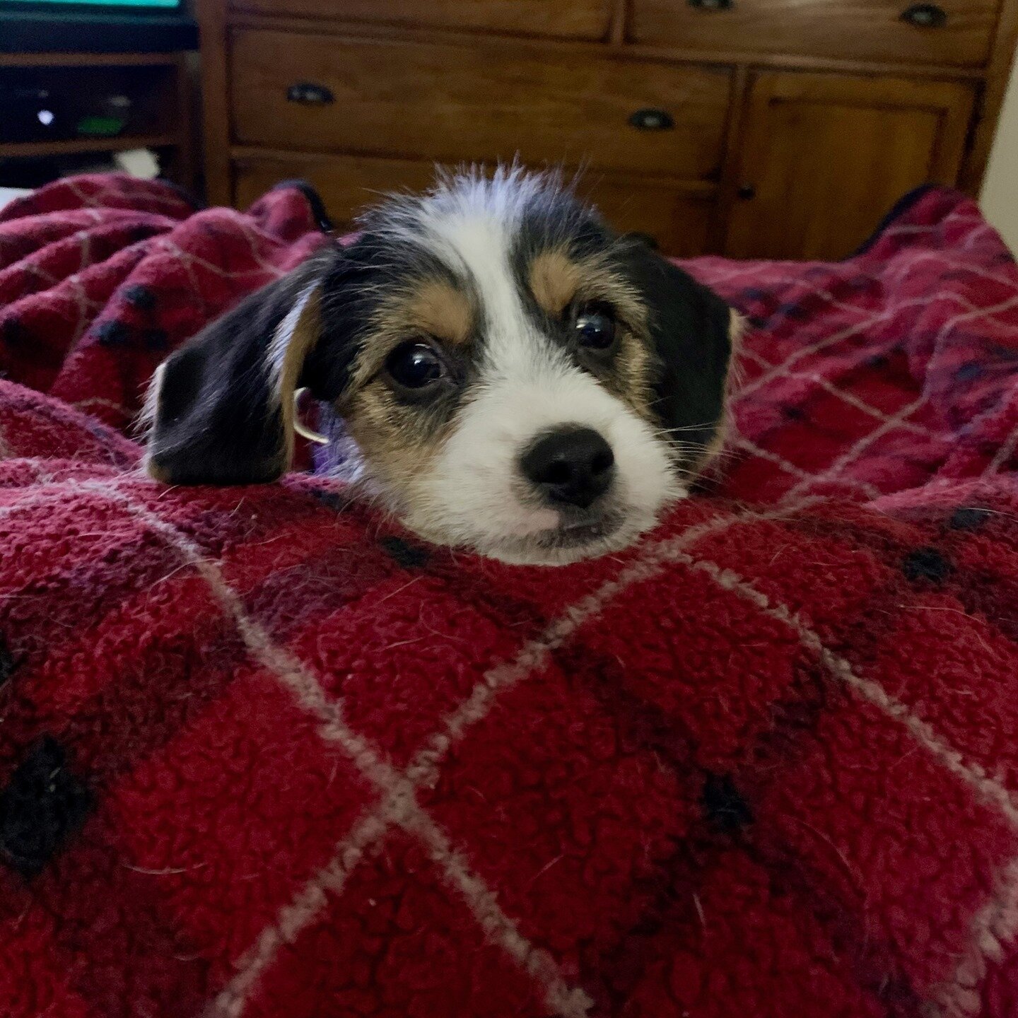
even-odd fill
[(697, 7), (689, 0), (633, 0), (631, 38), (725, 53), (979, 65), (989, 56), (1000, 7), (1000, 0), (703, 2)]

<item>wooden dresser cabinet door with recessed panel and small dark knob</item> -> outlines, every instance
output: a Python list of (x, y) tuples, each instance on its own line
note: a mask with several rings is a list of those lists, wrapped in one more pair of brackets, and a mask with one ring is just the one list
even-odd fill
[(956, 183), (973, 99), (948, 81), (759, 74), (726, 253), (847, 257), (908, 190)]

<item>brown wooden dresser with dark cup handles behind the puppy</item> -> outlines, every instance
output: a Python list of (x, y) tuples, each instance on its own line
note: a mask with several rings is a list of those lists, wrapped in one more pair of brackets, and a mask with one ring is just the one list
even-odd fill
[(435, 163), (582, 169), (687, 256), (841, 258), (975, 192), (1018, 0), (197, 0), (209, 197), (303, 177), (343, 226)]

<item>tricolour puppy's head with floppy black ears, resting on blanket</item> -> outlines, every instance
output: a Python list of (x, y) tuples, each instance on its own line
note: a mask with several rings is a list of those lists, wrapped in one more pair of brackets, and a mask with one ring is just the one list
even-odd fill
[(149, 470), (278, 477), (293, 392), (343, 416), (412, 530), (514, 562), (622, 548), (717, 447), (734, 316), (554, 177), (445, 178), (369, 214), (174, 353)]

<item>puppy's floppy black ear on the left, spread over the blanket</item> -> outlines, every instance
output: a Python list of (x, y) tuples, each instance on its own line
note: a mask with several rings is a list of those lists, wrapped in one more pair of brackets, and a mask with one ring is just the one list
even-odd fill
[(157, 370), (146, 401), (147, 466), (173, 485), (275, 480), (293, 453), (293, 392), (322, 333), (318, 256), (189, 340)]

